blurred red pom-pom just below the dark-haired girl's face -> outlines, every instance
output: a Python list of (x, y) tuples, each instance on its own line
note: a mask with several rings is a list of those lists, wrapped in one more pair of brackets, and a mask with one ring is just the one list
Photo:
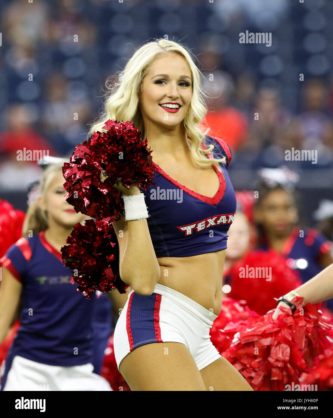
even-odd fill
[(302, 285), (295, 270), (274, 250), (248, 252), (233, 264), (229, 278), (228, 296), (246, 300), (248, 307), (260, 315), (276, 307), (274, 298)]

